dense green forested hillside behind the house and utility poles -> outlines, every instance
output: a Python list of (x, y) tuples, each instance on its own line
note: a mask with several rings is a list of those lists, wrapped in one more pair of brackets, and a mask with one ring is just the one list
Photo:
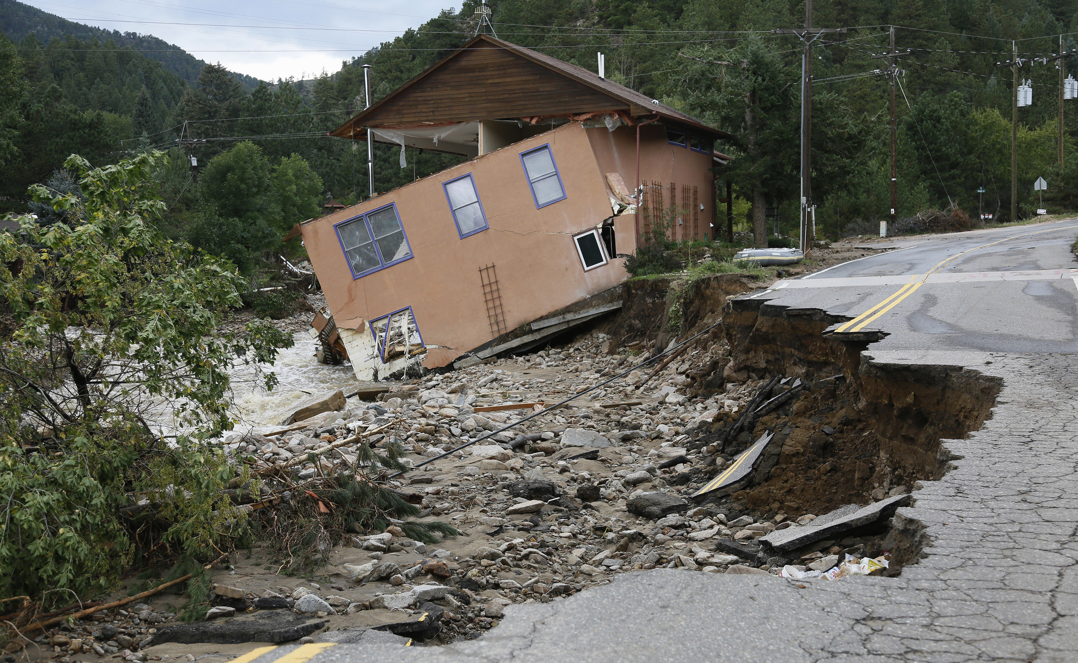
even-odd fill
[[(796, 36), (772, 30), (803, 25), (803, 4), (496, 0), (490, 5), (499, 38), (592, 70), (595, 53), (602, 51), (613, 80), (733, 133), (734, 139), (718, 149), (736, 158), (718, 174), (735, 185), (738, 220), (755, 191), (768, 207), (780, 209), (784, 228), (790, 229), (799, 196), (802, 48)], [(169, 204), (165, 223), (177, 235), (190, 234), (204, 227), (198, 218), (208, 208), (186, 159), (193, 154), (199, 169), (208, 167), (239, 141), (255, 145), (270, 170), (296, 155), (317, 175), (319, 199), (354, 202), (368, 191), (365, 145), (329, 138), (326, 131), (362, 108), (360, 66), (373, 66), (378, 99), (466, 43), (475, 30), (473, 11), (471, 1), (459, 12), (446, 10), (343, 62), (303, 94), (289, 81), (248, 90), (223, 68), (207, 66), (195, 85), (178, 96), (175, 76), (137, 54), (106, 57), (93, 53), (94, 42), (85, 42), (89, 53), (57, 58), (51, 50), (73, 51), (78, 40), (42, 45), (34, 38), (36, 46), (20, 43), (13, 62), (27, 85), (15, 113), (22, 113), (22, 142), (16, 141), (19, 156), (9, 157), (5, 169), (25, 177), (5, 184), (8, 207), (18, 207), (19, 191), (29, 183), (26, 178), (47, 177), (68, 150), (100, 163), (129, 151), (174, 149), (171, 179), (163, 182)], [(1059, 53), (1059, 36), (1078, 29), (1076, 12), (1074, 2), (1058, 0), (817, 0), (815, 26), (846, 28), (818, 38), (813, 48), (813, 197), (820, 231), (871, 231), (888, 212), (887, 79), (881, 73), (886, 60), (873, 56), (886, 51), (890, 25), (896, 26), (896, 46), (902, 54), (897, 58), (901, 216), (954, 207), (976, 217), (977, 189), (984, 188), (984, 211), (994, 213), (996, 221), (1009, 221), (1012, 83), (1011, 70), (997, 64), (1013, 57), (1012, 47), (1023, 62), (1020, 77), (1034, 89), (1033, 104), (1019, 110), (1019, 215), (1027, 216), (1037, 207), (1032, 184), (1038, 177), (1049, 181), (1046, 202), (1052, 209), (1074, 207), (1078, 101), (1065, 102), (1066, 163), (1061, 168), (1059, 69), (1054, 61), (1035, 58)], [(1067, 36), (1062, 46), (1074, 50), (1078, 43)], [(1078, 69), (1078, 57), (1065, 58), (1063, 66), (1067, 72)], [(111, 73), (102, 77), (100, 72)], [(63, 99), (56, 108), (66, 110), (46, 111), (51, 107), (41, 102), (44, 99)], [(59, 121), (47, 115), (61, 112), (66, 115)], [(746, 118), (752, 119), (751, 127)], [(72, 126), (83, 128), (72, 131)], [(186, 142), (177, 150), (181, 135)], [(53, 136), (57, 146), (36, 150), (32, 141), (42, 136)], [(121, 138), (134, 140), (121, 146)], [(376, 191), (455, 161), (416, 153), (401, 169), (397, 160), (396, 149), (376, 146)], [(270, 226), (288, 222), (281, 217)], [(262, 241), (253, 236), (234, 239), (236, 246), (251, 251)]]

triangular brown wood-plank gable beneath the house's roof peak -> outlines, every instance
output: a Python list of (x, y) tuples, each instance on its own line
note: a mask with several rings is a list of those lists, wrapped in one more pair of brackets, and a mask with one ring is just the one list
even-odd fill
[[(358, 126), (409, 126), (628, 109), (630, 104), (622, 99), (578, 83), (510, 48), (479, 41), (382, 100), (363, 114)], [(342, 131), (345, 127), (334, 133), (346, 135)]]

